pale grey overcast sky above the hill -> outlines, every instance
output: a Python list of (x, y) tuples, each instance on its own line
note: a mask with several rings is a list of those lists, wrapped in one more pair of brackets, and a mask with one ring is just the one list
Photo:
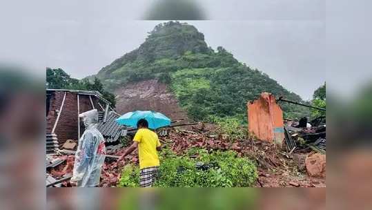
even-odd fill
[[(9, 1), (0, 7), (0, 14), (8, 17), (0, 19), (0, 61), (15, 61), (34, 69), (63, 68), (77, 78), (95, 74), (137, 48), (147, 32), (164, 22), (148, 20), (154, 19), (148, 17), (150, 11), (164, 1), (170, 0), (42, 0), (23, 2), (23, 7), (18, 1)], [(334, 77), (329, 69), (346, 73), (336, 73), (342, 82), (327, 80), (336, 90), (353, 89), (352, 84), (369, 75), (368, 70), (347, 74), (355, 64), (358, 66), (357, 61), (366, 58), (357, 48), (366, 45), (364, 41), (370, 37), (361, 21), (365, 8), (371, 6), (369, 1), (354, 5), (346, 0), (197, 2), (204, 20), (186, 22), (204, 33), (209, 46), (223, 46), (239, 61), (261, 70), (303, 99), (311, 99), (326, 78)], [(337, 15), (344, 14), (344, 8), (349, 12), (340, 21)], [(14, 15), (12, 9), (21, 15)], [(360, 23), (355, 25), (359, 39), (353, 39), (355, 33), (347, 30), (354, 20)], [(340, 62), (346, 64), (340, 66)]]

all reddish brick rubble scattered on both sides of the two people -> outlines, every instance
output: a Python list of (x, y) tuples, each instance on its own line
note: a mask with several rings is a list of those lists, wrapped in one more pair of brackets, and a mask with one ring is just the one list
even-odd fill
[[(292, 151), (282, 151), (282, 147), (271, 142), (255, 140), (247, 137), (244, 140), (231, 141), (222, 137), (216, 129), (202, 128), (193, 126), (190, 129), (170, 127), (163, 128), (161, 131), (166, 133), (160, 136), (159, 139), (164, 146), (174, 151), (177, 155), (187, 155), (187, 151), (192, 148), (206, 149), (208, 151), (215, 150), (232, 150), (239, 157), (250, 158), (257, 164), (259, 178), (257, 179), (256, 187), (325, 187), (325, 179), (322, 176), (310, 176), (316, 174), (318, 162), (313, 168), (309, 167), (311, 172), (308, 172), (306, 161), (313, 160), (317, 155), (309, 155), (311, 150), (303, 149), (297, 141), (300, 136), (306, 137), (303, 132), (315, 132), (316, 126), (309, 128), (296, 128), (293, 131), (288, 129), (288, 135), (291, 135), (296, 142), (297, 147)], [(306, 131), (304, 131), (306, 129)], [(322, 142), (322, 141), (320, 141)], [(124, 153), (124, 146), (111, 146), (110, 155), (106, 155), (106, 160), (101, 171), (101, 180), (99, 187), (116, 187), (123, 166), (117, 162), (117, 157)], [(55, 180), (68, 178), (72, 173), (74, 164), (75, 151), (63, 149), (59, 154), (52, 156), (52, 159), (59, 158), (65, 160), (61, 164), (47, 169), (47, 173), (52, 175)], [(321, 160), (321, 159), (320, 159)], [(128, 155), (126, 163), (138, 164), (137, 153)], [(322, 165), (322, 162), (320, 162)], [(319, 171), (319, 170), (318, 170)], [(320, 170), (323, 171), (323, 170)], [(322, 172), (323, 173), (323, 172)], [(302, 174), (302, 175), (299, 175)], [(325, 175), (325, 156), (324, 156), (324, 175)], [(61, 182), (61, 187), (70, 187), (68, 180)]]

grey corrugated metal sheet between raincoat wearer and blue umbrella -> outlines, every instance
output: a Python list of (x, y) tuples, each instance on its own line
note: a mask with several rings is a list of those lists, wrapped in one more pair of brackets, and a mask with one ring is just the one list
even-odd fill
[(110, 111), (107, 115), (106, 122), (100, 121), (97, 128), (104, 135), (106, 142), (116, 142), (122, 136), (121, 130), (125, 129), (124, 126), (117, 124), (115, 121), (120, 117), (118, 113)]

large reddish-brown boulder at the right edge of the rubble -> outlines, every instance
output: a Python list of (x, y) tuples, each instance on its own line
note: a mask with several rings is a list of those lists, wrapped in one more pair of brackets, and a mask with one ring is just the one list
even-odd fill
[(324, 178), (326, 176), (326, 155), (315, 153), (309, 155), (306, 160), (306, 171), (312, 177)]

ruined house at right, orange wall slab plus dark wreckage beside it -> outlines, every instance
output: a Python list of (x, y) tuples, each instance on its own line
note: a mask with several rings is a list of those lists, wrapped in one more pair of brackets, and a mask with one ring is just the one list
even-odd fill
[(324, 108), (292, 102), (283, 97), (276, 99), (271, 93), (262, 93), (253, 102), (247, 103), (248, 131), (259, 140), (282, 144), (288, 152), (307, 147), (318, 153), (325, 153), (325, 116), (317, 117), (310, 122), (307, 117), (302, 117), (300, 120), (284, 120), (282, 108), (277, 102), (326, 111)]

